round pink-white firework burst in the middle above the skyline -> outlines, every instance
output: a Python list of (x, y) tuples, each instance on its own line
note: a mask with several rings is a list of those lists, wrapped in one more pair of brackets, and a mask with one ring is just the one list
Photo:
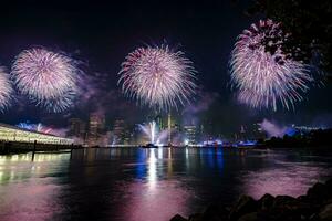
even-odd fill
[(118, 84), (128, 97), (156, 109), (189, 101), (196, 88), (195, 70), (184, 53), (167, 45), (139, 48), (122, 63)]

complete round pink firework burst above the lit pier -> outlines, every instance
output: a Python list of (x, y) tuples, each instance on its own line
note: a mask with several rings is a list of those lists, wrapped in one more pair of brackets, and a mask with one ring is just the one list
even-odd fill
[(45, 49), (22, 51), (11, 73), (22, 94), (53, 112), (69, 108), (77, 93), (74, 61)]

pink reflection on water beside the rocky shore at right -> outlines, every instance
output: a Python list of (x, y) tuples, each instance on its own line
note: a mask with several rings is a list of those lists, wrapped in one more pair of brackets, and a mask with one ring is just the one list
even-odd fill
[(331, 176), (326, 164), (287, 162), (276, 160), (272, 168), (243, 172), (239, 179), (243, 182), (243, 192), (259, 199), (264, 193), (272, 196), (289, 194), (299, 197), (323, 177)]

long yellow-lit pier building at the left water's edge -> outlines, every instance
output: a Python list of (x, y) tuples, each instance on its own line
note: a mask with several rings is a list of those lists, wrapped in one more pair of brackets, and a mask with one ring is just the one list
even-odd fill
[(72, 139), (54, 135), (30, 131), (11, 125), (0, 124), (0, 141), (39, 143), (53, 145), (71, 145)]

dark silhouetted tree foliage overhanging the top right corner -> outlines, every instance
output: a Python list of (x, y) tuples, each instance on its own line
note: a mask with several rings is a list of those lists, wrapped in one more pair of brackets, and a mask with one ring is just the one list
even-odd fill
[(293, 59), (314, 64), (332, 78), (332, 1), (255, 0), (247, 10), (281, 22), (290, 33), (283, 50)]

